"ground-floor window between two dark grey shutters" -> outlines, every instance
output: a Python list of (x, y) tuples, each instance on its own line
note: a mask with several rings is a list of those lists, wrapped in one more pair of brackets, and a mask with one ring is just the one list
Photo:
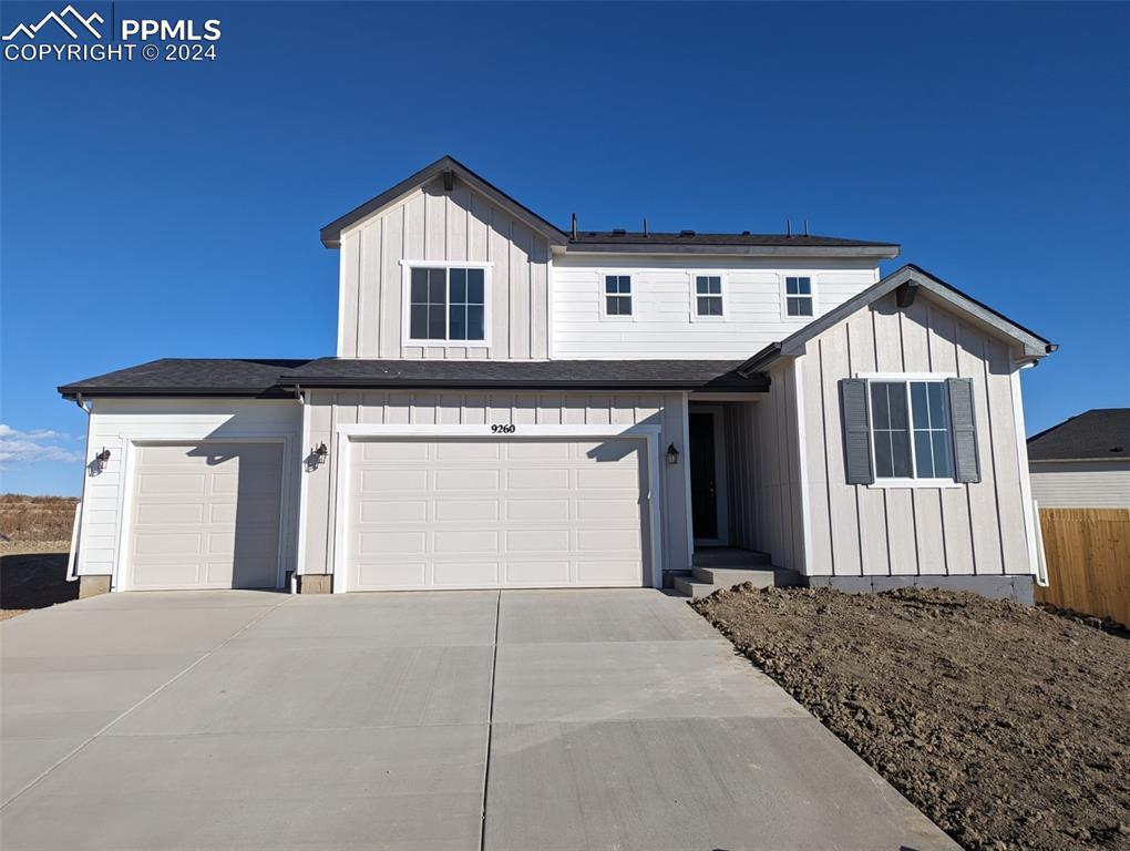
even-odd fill
[(945, 381), (871, 381), (876, 479), (954, 477)]

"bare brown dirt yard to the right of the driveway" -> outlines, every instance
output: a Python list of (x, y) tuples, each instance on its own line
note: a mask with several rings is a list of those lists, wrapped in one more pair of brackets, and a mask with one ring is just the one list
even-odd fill
[(966, 849), (1130, 849), (1127, 639), (921, 589), (692, 605)]

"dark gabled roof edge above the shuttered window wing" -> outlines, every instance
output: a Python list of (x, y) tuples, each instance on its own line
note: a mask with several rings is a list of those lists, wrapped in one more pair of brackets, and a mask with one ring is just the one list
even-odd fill
[(1057, 346), (1040, 337), (1034, 331), (1029, 331), (1024, 325), (1017, 324), (1001, 313), (998, 313), (986, 304), (979, 302), (966, 295), (957, 287), (954, 287), (941, 278), (935, 277), (925, 269), (906, 263), (897, 271), (892, 272), (883, 280), (868, 287), (857, 296), (849, 298), (838, 307), (828, 311), (823, 316), (815, 319), (796, 333), (785, 337), (780, 342), (771, 342), (751, 358), (746, 361), (738, 372), (741, 374), (764, 370), (774, 361), (781, 357), (789, 357), (802, 354), (805, 344), (814, 337), (824, 333), (833, 325), (847, 319), (855, 311), (866, 307), (872, 302), (883, 298), (885, 295), (898, 289), (899, 306), (910, 306), (914, 301), (919, 288), (925, 289), (938, 296), (953, 307), (980, 320), (992, 327), (999, 333), (1010, 337), (1024, 347), (1024, 354), (1033, 359), (1044, 357), (1055, 350)]

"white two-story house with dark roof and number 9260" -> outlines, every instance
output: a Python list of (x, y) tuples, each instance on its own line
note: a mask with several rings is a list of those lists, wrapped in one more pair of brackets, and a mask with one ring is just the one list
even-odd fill
[(60, 388), (89, 413), (84, 593), (775, 566), (1031, 600), (1019, 373), (1054, 347), (918, 267), (881, 277), (897, 245), (562, 231), (450, 157), (321, 238), (334, 357)]

